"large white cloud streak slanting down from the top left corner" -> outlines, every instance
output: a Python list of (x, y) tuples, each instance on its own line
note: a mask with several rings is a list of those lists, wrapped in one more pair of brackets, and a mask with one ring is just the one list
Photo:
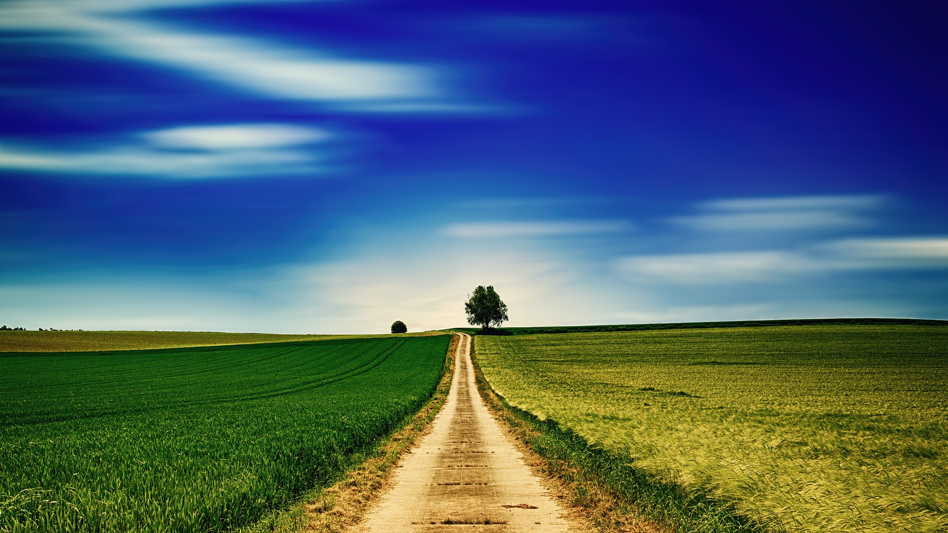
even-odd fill
[[(134, 2), (137, 9), (208, 2)], [(224, 2), (215, 2), (224, 3)], [(148, 22), (120, 2), (25, 0), (0, 4), (0, 28), (46, 32), (65, 45), (160, 64), (265, 98), (314, 101), (349, 111), (444, 110), (427, 66), (342, 57), (309, 49)], [(121, 16), (118, 16), (121, 14)], [(364, 105), (364, 109), (360, 106)]]

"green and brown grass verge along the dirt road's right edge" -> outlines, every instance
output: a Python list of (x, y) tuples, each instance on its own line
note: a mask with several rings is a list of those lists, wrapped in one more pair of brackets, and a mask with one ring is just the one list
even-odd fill
[[(473, 342), (472, 342), (473, 344)], [(636, 516), (662, 524), (673, 531), (688, 533), (773, 533), (774, 528), (737, 514), (733, 506), (708, 497), (701, 491), (667, 483), (629, 464), (628, 454), (591, 446), (586, 439), (561, 427), (556, 420), (541, 420), (507, 402), (490, 386), (471, 346), (475, 380), (482, 397), (499, 409), (501, 422), (530, 450), (547, 463), (547, 472), (573, 493), (579, 506), (597, 505), (589, 487), (609, 496), (605, 512), (589, 513), (603, 531), (623, 530), (623, 517)], [(518, 431), (526, 426), (533, 432)], [(602, 503), (598, 503), (602, 505)], [(777, 530), (778, 531), (778, 530)]]

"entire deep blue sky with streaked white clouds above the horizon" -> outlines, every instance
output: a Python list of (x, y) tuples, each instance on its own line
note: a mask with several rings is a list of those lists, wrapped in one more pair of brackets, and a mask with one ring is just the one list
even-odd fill
[(948, 319), (948, 10), (0, 2), (0, 322)]

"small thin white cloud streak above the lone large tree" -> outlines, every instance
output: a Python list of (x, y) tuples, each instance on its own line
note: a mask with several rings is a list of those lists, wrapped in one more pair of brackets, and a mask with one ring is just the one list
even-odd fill
[(617, 233), (631, 230), (625, 220), (547, 220), (530, 222), (467, 222), (448, 224), (441, 232), (451, 237), (549, 237)]

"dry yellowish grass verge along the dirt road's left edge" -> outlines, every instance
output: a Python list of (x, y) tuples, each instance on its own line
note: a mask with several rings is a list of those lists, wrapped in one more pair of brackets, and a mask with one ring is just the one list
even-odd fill
[(394, 467), (401, 456), (428, 432), (431, 421), (447, 401), (458, 340), (457, 335), (451, 336), (445, 370), (438, 388), (417, 414), (391, 435), (380, 439), (372, 450), (354, 455), (354, 467), (348, 469), (334, 485), (316, 487), (303, 493), (292, 505), (268, 511), (263, 519), (240, 529), (240, 533), (338, 533), (358, 524), (382, 489), (390, 484)]

